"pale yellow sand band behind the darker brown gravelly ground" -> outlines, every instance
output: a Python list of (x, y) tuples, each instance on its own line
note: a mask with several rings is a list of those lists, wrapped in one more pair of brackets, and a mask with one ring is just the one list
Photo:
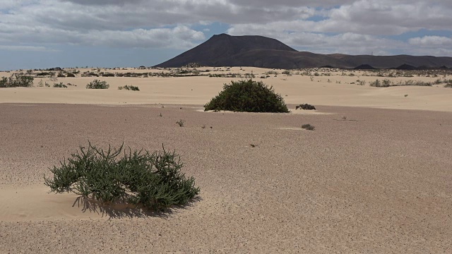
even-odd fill
[[(202, 68), (206, 69), (206, 68)], [(369, 71), (331, 72), (327, 69), (319, 71), (323, 76), (279, 74), (277, 77), (261, 79), (269, 69), (234, 67), (230, 71), (214, 71), (211, 74), (226, 73), (254, 73), (256, 80), (262, 80), (267, 85), (273, 85), (275, 91), (280, 93), (287, 104), (309, 103), (314, 105), (348, 106), (348, 107), (374, 107), (385, 109), (422, 109), (434, 111), (452, 111), (452, 89), (443, 87), (444, 84), (433, 87), (404, 86), (404, 87), (370, 87), (369, 82), (385, 78), (375, 76)], [(218, 70), (218, 69), (216, 69)], [(87, 69), (81, 69), (81, 73)], [(102, 70), (102, 72), (124, 72), (122, 70)], [(282, 73), (283, 70), (277, 70)], [(129, 72), (162, 72), (161, 70), (129, 70)], [(165, 71), (169, 72), (169, 71)], [(317, 71), (311, 71), (314, 75)], [(292, 71), (295, 73), (295, 71)], [(328, 74), (326, 76), (325, 74)], [(203, 73), (208, 75), (209, 73)], [(8, 77), (11, 73), (0, 73)], [(353, 75), (353, 76), (350, 76)], [(108, 90), (87, 90), (85, 85), (92, 80), (106, 80)], [(70, 104), (195, 104), (203, 105), (210, 98), (218, 95), (225, 83), (231, 80), (244, 78), (208, 78), (208, 77), (182, 77), (182, 78), (119, 78), (119, 77), (77, 77), (58, 78), (52, 82), (49, 78), (42, 78), (43, 82), (71, 83), (76, 86), (68, 88), (54, 87), (17, 87), (0, 90), (0, 103), (70, 103)], [(437, 79), (452, 79), (433, 75), (430, 77), (398, 77), (386, 78), (394, 83), (405, 80), (420, 80), (434, 82)], [(41, 79), (35, 78), (35, 85)], [(328, 80), (330, 81), (328, 83)], [(366, 85), (356, 85), (357, 80), (364, 80)], [(340, 82), (340, 83), (339, 83)], [(118, 90), (119, 86), (135, 85), (139, 92)], [(405, 95), (408, 95), (405, 97)]]

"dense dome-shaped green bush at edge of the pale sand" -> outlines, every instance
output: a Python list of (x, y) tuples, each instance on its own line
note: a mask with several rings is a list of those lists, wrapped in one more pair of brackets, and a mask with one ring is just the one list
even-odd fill
[(289, 112), (283, 97), (275, 94), (273, 87), (253, 80), (232, 81), (230, 85), (223, 85), (222, 92), (204, 105), (204, 110)]

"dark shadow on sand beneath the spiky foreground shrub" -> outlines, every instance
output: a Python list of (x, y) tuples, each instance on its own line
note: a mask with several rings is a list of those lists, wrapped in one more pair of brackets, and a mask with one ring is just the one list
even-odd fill
[(86, 198), (79, 196), (73, 202), (72, 207), (81, 207), (82, 212), (93, 212), (101, 214), (102, 217), (109, 217), (109, 219), (132, 219), (132, 218), (145, 218), (145, 217), (160, 217), (168, 218), (178, 210), (186, 210), (193, 207), (197, 202), (201, 201), (201, 197), (196, 197), (187, 205), (172, 206), (164, 210), (150, 210), (141, 205), (135, 206), (126, 202), (104, 203), (94, 200), (92, 198)]

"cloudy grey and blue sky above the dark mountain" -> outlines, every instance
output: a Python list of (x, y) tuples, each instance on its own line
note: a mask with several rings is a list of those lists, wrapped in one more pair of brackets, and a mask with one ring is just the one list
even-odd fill
[(152, 66), (212, 35), (323, 54), (452, 56), (451, 0), (0, 0), (0, 70)]

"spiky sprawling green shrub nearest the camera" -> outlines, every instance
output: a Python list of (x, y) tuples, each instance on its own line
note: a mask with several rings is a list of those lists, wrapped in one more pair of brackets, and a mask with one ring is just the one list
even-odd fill
[[(89, 142), (88, 142), (89, 143)], [(88, 148), (72, 154), (50, 169), (53, 178), (44, 176), (44, 184), (55, 193), (73, 192), (83, 198), (91, 196), (102, 203), (128, 202), (153, 210), (171, 205), (186, 205), (195, 198), (199, 188), (194, 178), (186, 179), (183, 164), (175, 152), (150, 154), (146, 150), (101, 150), (89, 143)]]

